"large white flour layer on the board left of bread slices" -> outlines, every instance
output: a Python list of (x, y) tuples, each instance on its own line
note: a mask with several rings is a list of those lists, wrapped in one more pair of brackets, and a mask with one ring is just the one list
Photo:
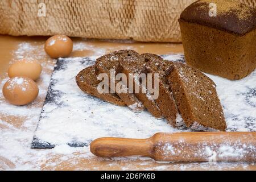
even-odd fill
[(61, 69), (53, 73), (52, 79), (57, 83), (52, 89), (59, 93), (43, 107), (35, 134), (39, 142), (89, 144), (100, 137), (147, 138), (158, 132), (181, 131), (148, 111), (134, 113), (128, 107), (115, 106), (82, 92), (75, 77), (81, 69), (94, 64), (95, 58), (63, 60)]

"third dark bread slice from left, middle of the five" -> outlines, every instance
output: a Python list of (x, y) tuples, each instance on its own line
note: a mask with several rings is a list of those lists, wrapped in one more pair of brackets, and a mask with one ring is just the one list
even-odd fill
[[(144, 59), (141, 55), (138, 55), (138, 54), (126, 56), (119, 61), (117, 72), (125, 73), (127, 77), (127, 83), (129, 83), (129, 74), (138, 74), (138, 75), (141, 74), (141, 71), (144, 65), (147, 63), (147, 61), (148, 61), (147, 59)], [(133, 77), (132, 80), (134, 85), (133, 91), (135, 96), (140, 101), (142, 101), (143, 105), (152, 115), (154, 115), (154, 117), (163, 118), (162, 111), (160, 111), (155, 100), (150, 99), (151, 94), (146, 89), (146, 85), (144, 85), (144, 90), (146, 91), (146, 93), (142, 93), (142, 85), (141, 85), (141, 82), (139, 82), (138, 78)], [(139, 92), (135, 92), (135, 85), (138, 86)]]

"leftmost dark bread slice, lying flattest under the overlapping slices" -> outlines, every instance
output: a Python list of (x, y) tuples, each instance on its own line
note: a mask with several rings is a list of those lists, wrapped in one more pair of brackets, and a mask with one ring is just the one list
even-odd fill
[(104, 101), (110, 102), (115, 105), (125, 106), (125, 102), (121, 100), (117, 96), (117, 94), (112, 93), (98, 93), (97, 86), (99, 81), (97, 80), (97, 76), (95, 74), (95, 66), (90, 66), (83, 69), (76, 76), (76, 83), (79, 88), (92, 96), (101, 98)]

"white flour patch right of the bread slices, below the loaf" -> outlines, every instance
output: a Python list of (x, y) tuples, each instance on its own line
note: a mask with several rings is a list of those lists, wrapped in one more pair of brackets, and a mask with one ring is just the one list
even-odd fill
[(256, 70), (237, 81), (206, 75), (217, 85), (228, 131), (256, 131)]

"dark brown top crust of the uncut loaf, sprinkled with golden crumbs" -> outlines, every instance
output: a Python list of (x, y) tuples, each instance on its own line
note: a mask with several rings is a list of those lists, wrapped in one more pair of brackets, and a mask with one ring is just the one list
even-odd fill
[(199, 0), (181, 13), (182, 20), (242, 36), (256, 27), (256, 9), (234, 0)]

